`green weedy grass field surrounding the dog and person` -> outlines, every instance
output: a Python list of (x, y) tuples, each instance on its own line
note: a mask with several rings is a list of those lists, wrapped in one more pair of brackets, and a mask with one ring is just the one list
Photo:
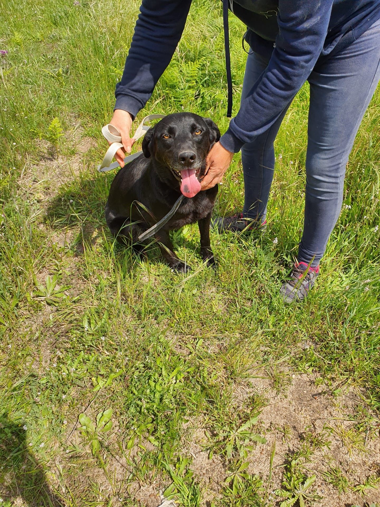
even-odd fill
[[(359, 477), (332, 463), (329, 448), (355, 459), (378, 432), (380, 95), (356, 138), (343, 210), (305, 303), (284, 306), (278, 291), (302, 230), (308, 85), (276, 141), (267, 234), (213, 232), (214, 273), (198, 257), (197, 227), (185, 227), (173, 241), (193, 271), (176, 275), (154, 244), (140, 261), (112, 241), (104, 204), (114, 174), (96, 172), (138, 6), (0, 4), (3, 504), (150, 506), (166, 491), (185, 506), (264, 506), (300, 501), (306, 489), (306, 502), (318, 501), (323, 485), (330, 505), (342, 492), (347, 502), (378, 501), (378, 470), (368, 465)], [(230, 27), (236, 112), (244, 26), (231, 17)], [(193, 3), (141, 116), (182, 110), (227, 127), (222, 18), (209, 0)], [(242, 202), (236, 155), (216, 212)], [(272, 424), (264, 414), (273, 392), (286, 401), (302, 375), (342, 421), (319, 430), (305, 421), (298, 438), (292, 418)], [(296, 466), (284, 462), (290, 450)]]

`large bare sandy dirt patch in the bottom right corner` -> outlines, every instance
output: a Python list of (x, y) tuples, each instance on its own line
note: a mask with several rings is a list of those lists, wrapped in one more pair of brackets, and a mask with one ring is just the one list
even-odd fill
[[(338, 493), (323, 480), (321, 474), (329, 466), (338, 466), (343, 474), (354, 485), (364, 483), (380, 467), (380, 440), (374, 438), (365, 442), (364, 436), (353, 440), (350, 430), (355, 427), (355, 414), (363, 404), (361, 397), (350, 390), (338, 397), (333, 397), (326, 386), (315, 386), (315, 377), (296, 375), (289, 389), (284, 394), (268, 389), (268, 383), (262, 379), (252, 379), (255, 386), (269, 399), (269, 404), (260, 414), (265, 427), (265, 438), (268, 443), (257, 446), (249, 456), (250, 471), (267, 478), (272, 445), (275, 442), (276, 454), (273, 471), (273, 489), (280, 487), (283, 463), (308, 438), (326, 433), (327, 445), (321, 444), (313, 449), (307, 468), (317, 475), (316, 490), (324, 497), (316, 505), (344, 505), (362, 502), (359, 494), (353, 492)], [(351, 419), (351, 420), (350, 420)], [(360, 435), (360, 434), (359, 434)], [(312, 475), (312, 474), (310, 474)], [(370, 493), (371, 501), (380, 499), (378, 491)]]

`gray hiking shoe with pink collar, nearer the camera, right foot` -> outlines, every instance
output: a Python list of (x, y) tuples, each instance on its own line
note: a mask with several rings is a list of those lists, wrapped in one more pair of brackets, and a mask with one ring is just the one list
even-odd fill
[(280, 290), (286, 303), (291, 303), (294, 300), (302, 301), (309, 294), (319, 274), (319, 265), (316, 268), (310, 267), (308, 269), (308, 267), (305, 262), (294, 265), (290, 275), (291, 279), (285, 282)]

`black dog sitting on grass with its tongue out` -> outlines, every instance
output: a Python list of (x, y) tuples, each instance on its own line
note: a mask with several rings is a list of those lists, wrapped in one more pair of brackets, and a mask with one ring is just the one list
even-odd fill
[(191, 113), (168, 115), (146, 132), (143, 154), (117, 173), (105, 208), (107, 225), (120, 243), (141, 250), (138, 236), (161, 220), (182, 192), (187, 198), (155, 235), (163, 256), (173, 270), (188, 271), (173, 252), (169, 231), (198, 221), (201, 257), (215, 264), (209, 232), (218, 186), (200, 192), (200, 179), (206, 156), (219, 138), (212, 120)]

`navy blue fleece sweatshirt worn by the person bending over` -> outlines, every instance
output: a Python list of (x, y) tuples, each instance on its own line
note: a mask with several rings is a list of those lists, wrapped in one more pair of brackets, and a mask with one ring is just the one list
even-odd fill
[[(135, 117), (144, 107), (173, 56), (191, 2), (143, 0), (115, 109)], [(380, 0), (234, 0), (231, 6), (249, 28), (252, 49), (270, 61), (220, 138), (230, 152), (277, 120), (319, 57), (350, 44), (380, 18)]]

